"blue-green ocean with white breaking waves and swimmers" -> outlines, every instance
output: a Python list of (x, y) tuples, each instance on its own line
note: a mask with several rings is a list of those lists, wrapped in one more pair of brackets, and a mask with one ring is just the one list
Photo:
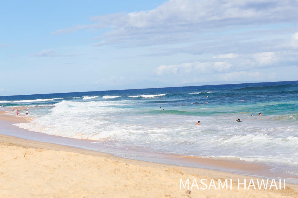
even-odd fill
[(33, 120), (15, 125), (35, 132), (298, 175), (298, 81), (1, 96), (0, 104), (26, 106)]

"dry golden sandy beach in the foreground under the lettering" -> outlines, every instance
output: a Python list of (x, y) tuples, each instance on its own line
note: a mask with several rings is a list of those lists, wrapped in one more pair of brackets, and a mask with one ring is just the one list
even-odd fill
[[(0, 112), (1, 125), (29, 121)], [(119, 158), (7, 135), (0, 135), (0, 146), (1, 197), (298, 197), (297, 185), (269, 190), (270, 180), (266, 190), (247, 190), (251, 179), (257, 187), (256, 177), (227, 172)], [(187, 179), (189, 188), (195, 179), (199, 189), (193, 186), (187, 192)], [(210, 189), (201, 189), (201, 179)], [(209, 185), (212, 179), (216, 187)], [(219, 179), (232, 179), (232, 189), (229, 183), (228, 190), (218, 190)], [(246, 179), (246, 189), (240, 185), (238, 190), (238, 179)]]

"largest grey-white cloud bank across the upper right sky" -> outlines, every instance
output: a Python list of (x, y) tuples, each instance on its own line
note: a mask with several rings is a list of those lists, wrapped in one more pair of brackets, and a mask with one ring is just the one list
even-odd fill
[(93, 16), (90, 20), (95, 21), (94, 24), (74, 25), (54, 33), (109, 27), (110, 31), (97, 37), (105, 40), (104, 44), (130, 41), (143, 46), (170, 44), (173, 40), (174, 43), (191, 43), (198, 34), (210, 29), (295, 23), (292, 16), (297, 14), (297, 6), (296, 1), (277, 0), (170, 0), (153, 10)]

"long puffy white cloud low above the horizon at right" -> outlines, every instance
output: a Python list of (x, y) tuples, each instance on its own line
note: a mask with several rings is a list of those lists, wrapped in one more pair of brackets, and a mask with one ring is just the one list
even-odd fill
[[(215, 57), (235, 57), (222, 62), (188, 62), (179, 65), (160, 65), (154, 69), (157, 76), (187, 76), (190, 73), (215, 74), (249, 71), (270, 67), (297, 65), (297, 51), (262, 52), (255, 54), (229, 54)], [(244, 73), (241, 73), (244, 74)], [(252, 75), (253, 73), (246, 73)]]

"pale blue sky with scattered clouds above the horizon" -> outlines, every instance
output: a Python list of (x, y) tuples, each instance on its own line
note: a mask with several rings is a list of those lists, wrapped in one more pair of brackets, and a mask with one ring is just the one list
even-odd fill
[(298, 80), (297, 1), (4, 1), (0, 95)]

